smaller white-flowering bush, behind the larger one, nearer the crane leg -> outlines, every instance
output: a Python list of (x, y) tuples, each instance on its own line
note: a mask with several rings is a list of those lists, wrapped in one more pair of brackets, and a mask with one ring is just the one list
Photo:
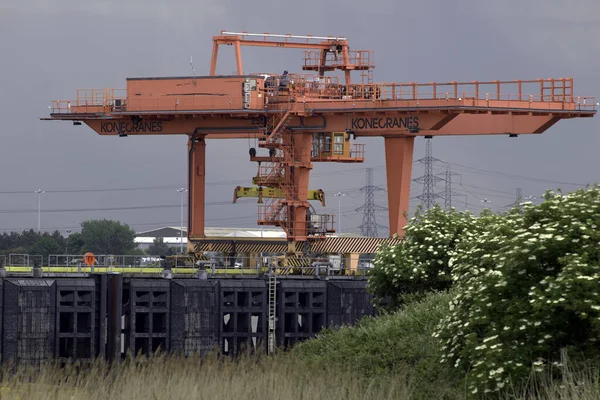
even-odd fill
[[(452, 285), (449, 260), (463, 237), (479, 235), (488, 220), (469, 212), (420, 209), (405, 228), (404, 240), (379, 248), (369, 278), (376, 304), (395, 309), (406, 295), (448, 289)], [(465, 236), (466, 235), (466, 236)]]

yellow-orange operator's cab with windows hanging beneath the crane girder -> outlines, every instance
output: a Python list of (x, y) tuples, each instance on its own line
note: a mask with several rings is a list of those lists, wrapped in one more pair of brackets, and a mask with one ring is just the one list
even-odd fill
[(350, 143), (347, 132), (315, 132), (312, 143), (312, 161), (364, 161), (365, 145)]

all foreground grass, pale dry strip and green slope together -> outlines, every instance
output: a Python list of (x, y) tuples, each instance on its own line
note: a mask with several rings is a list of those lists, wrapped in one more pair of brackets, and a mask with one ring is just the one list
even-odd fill
[[(233, 362), (216, 356), (159, 356), (112, 368), (96, 362), (84, 368), (2, 371), (0, 399), (464, 399), (464, 377), (440, 364), (431, 336), (450, 296), (427, 296), (403, 311), (328, 330), (289, 353), (269, 357)], [(594, 362), (580, 365), (555, 381), (537, 377), (525, 387), (509, 387), (500, 399), (600, 399), (597, 367)]]

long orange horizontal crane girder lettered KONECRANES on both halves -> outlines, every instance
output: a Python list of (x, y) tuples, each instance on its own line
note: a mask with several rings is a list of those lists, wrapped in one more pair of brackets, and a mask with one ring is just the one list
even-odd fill
[[(371, 111), (366, 113), (320, 114), (319, 116), (294, 116), (290, 118), (289, 129), (301, 131), (301, 125), (314, 127), (314, 132), (351, 131), (356, 137), (372, 136), (463, 136), (463, 135), (507, 135), (542, 133), (560, 119), (589, 116), (589, 113), (545, 112), (544, 115), (507, 114), (450, 114), (449, 112), (426, 113), (414, 109), (406, 111)], [(246, 139), (262, 138), (261, 125), (256, 119), (261, 117), (209, 117), (197, 119), (177, 118), (157, 119), (156, 116), (144, 116), (136, 123), (132, 116), (116, 118), (87, 119), (87, 117), (69, 114), (56, 119), (82, 121), (99, 135), (118, 136), (136, 135), (189, 135), (200, 129), (207, 139)], [(391, 123), (389, 121), (392, 121)], [(410, 132), (407, 125), (414, 125)], [(390, 128), (391, 126), (391, 128)], [(306, 129), (304, 129), (306, 130)]]

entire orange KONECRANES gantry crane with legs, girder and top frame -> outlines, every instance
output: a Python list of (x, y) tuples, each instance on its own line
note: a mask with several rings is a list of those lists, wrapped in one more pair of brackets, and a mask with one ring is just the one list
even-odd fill
[[(217, 75), (222, 45), (235, 49), (236, 75)], [(304, 49), (306, 72), (244, 74), (242, 46)], [(308, 189), (312, 163), (363, 162), (364, 145), (351, 143), (357, 137), (384, 138), (390, 236), (402, 236), (415, 137), (540, 134), (561, 119), (596, 113), (594, 98), (574, 95), (572, 78), (374, 83), (372, 60), (372, 51), (351, 50), (343, 37), (222, 31), (213, 37), (209, 76), (128, 78), (124, 93), (79, 90), (73, 101), (53, 101), (43, 119), (83, 122), (100, 135), (188, 135), (192, 243), (206, 239), (207, 140), (257, 139), (268, 149), (250, 149), (258, 224), (303, 243), (334, 231), (333, 215), (311, 211), (309, 200), (324, 201)]]

